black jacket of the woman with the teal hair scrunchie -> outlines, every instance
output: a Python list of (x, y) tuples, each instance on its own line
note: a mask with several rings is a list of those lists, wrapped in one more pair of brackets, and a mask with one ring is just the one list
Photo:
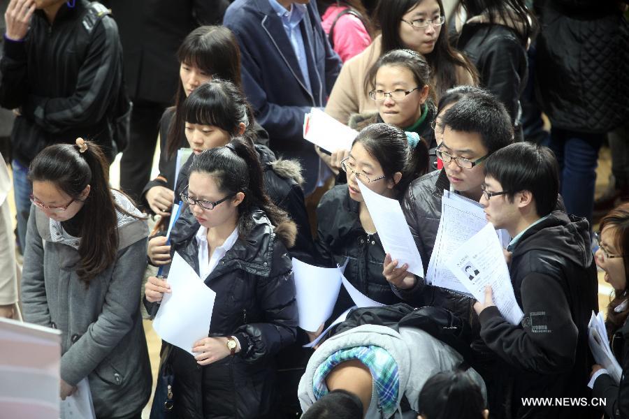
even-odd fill
[[(321, 198), (317, 207), (317, 255), (326, 267), (343, 265), (345, 278), (361, 293), (383, 304), (402, 302), (402, 292), (382, 275), (384, 249), (378, 233), (368, 234), (361, 225), (359, 203), (349, 198), (347, 184), (334, 186)], [(421, 291), (421, 288), (418, 288)], [(407, 297), (407, 295), (405, 295)], [(407, 297), (410, 299), (410, 297)], [(341, 314), (354, 303), (344, 287), (336, 301), (333, 315)]]

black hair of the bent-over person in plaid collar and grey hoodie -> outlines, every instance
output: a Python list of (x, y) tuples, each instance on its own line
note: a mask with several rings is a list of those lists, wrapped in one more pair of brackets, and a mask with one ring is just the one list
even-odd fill
[(301, 419), (362, 419), (363, 402), (347, 390), (332, 390), (312, 404)]

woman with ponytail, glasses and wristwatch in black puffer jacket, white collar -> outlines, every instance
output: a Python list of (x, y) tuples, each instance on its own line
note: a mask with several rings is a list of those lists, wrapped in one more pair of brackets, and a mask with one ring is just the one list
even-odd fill
[[(171, 256), (179, 253), (217, 296), (208, 337), (190, 348), (195, 356), (172, 346), (163, 361), (174, 374), (175, 416), (275, 417), (273, 355), (296, 339), (287, 256), (296, 226), (266, 195), (256, 152), (240, 138), (196, 155), (180, 197), (189, 212), (175, 222)], [(170, 292), (167, 279), (148, 279), (150, 314)]]

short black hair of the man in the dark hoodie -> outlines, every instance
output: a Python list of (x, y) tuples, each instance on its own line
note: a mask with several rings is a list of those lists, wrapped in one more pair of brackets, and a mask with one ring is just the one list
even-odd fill
[(514, 195), (530, 191), (537, 215), (550, 214), (559, 195), (559, 166), (551, 149), (530, 142), (516, 142), (489, 156), (485, 175), (500, 182), (513, 201)]

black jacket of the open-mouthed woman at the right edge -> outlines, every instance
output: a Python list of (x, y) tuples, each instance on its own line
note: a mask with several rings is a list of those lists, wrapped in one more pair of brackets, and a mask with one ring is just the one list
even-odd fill
[(592, 396), (607, 399), (605, 413), (612, 419), (629, 418), (629, 321), (614, 332), (612, 336), (612, 351), (621, 367), (623, 378), (618, 385), (614, 378), (602, 374), (594, 382)]

